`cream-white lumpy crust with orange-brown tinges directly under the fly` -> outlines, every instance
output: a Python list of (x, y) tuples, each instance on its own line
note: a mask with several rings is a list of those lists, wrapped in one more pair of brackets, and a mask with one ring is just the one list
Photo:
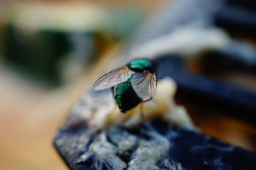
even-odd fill
[(194, 128), (183, 106), (177, 106), (173, 99), (177, 85), (171, 78), (164, 78), (157, 83), (157, 92), (152, 99), (143, 104), (143, 118), (141, 118), (140, 105), (125, 115), (120, 113), (112, 97), (111, 90), (95, 92), (84, 96), (74, 106), (69, 121), (65, 126), (76, 124), (88, 125), (96, 129), (106, 129), (113, 125), (125, 128), (134, 128), (143, 122), (159, 117), (170, 125), (183, 128)]

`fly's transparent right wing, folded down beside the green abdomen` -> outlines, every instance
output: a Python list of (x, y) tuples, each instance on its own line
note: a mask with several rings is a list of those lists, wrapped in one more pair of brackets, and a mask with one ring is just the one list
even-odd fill
[(142, 99), (147, 101), (152, 99), (156, 93), (156, 74), (144, 71), (144, 73), (134, 73), (131, 79), (132, 87), (136, 94)]

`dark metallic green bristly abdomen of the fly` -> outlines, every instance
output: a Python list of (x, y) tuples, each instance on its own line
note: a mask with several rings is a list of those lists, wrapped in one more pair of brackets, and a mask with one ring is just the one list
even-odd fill
[(140, 97), (132, 89), (131, 78), (124, 83), (116, 85), (113, 90), (114, 99), (122, 113), (126, 113), (141, 103)]

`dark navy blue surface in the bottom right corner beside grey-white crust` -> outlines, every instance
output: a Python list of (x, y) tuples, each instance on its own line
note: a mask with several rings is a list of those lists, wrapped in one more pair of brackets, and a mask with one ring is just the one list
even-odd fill
[(255, 169), (256, 153), (223, 143), (198, 132), (175, 129), (168, 132), (173, 141), (174, 160), (186, 169)]

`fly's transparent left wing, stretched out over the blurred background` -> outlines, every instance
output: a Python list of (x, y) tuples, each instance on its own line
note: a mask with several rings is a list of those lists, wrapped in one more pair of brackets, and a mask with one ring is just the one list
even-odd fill
[(115, 85), (118, 85), (118, 83), (122, 83), (130, 78), (132, 73), (133, 71), (128, 67), (115, 69), (96, 80), (93, 88), (95, 90), (103, 90), (114, 87)]

